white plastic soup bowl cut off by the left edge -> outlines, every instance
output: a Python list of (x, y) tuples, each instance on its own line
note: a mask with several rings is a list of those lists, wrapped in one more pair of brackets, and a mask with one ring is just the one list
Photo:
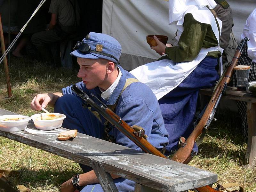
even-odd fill
[[(3, 121), (7, 118), (24, 118), (17, 121)], [(2, 115), (0, 116), (0, 130), (5, 132), (22, 131), (28, 126), (31, 118), (24, 115)]]

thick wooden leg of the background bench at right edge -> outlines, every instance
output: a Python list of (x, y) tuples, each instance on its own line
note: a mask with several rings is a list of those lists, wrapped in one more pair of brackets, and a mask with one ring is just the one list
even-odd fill
[(247, 102), (248, 142), (245, 163), (256, 166), (256, 103)]

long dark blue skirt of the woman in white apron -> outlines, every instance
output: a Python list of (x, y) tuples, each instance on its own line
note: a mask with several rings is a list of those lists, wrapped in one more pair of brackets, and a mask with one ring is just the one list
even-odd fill
[[(188, 138), (194, 130), (193, 118), (199, 89), (212, 87), (219, 79), (215, 70), (218, 59), (205, 57), (184, 81), (158, 100), (164, 118), (164, 125), (169, 134), (166, 155), (178, 149), (180, 136)], [(196, 152), (197, 146), (194, 146)]]

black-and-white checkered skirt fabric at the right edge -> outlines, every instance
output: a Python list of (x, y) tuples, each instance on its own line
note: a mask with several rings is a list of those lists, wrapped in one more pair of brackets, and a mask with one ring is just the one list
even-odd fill
[[(244, 52), (242, 53), (238, 65), (249, 65), (251, 66), (250, 74), (249, 74), (249, 79), (248, 82), (251, 81), (256, 81), (256, 63), (252, 62), (252, 60), (248, 57), (247, 54), (247, 43), (245, 44), (244, 47)], [(233, 85), (234, 87), (237, 87), (236, 85), (236, 74), (234, 73), (233, 76)], [(241, 115), (242, 119), (242, 132), (244, 139), (248, 139), (248, 124), (247, 124), (247, 116), (246, 116), (246, 110), (247, 110), (247, 104), (244, 101), (236, 101), (237, 107), (238, 107), (238, 112)]]

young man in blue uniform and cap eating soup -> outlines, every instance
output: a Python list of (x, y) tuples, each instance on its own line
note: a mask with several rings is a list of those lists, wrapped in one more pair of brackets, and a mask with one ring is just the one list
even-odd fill
[[(76, 46), (76, 50), (71, 52), (71, 55), (77, 57), (80, 66), (77, 76), (82, 78), (82, 82), (76, 84), (80, 89), (88, 95), (93, 93), (106, 105), (116, 104), (114, 109), (116, 114), (130, 126), (143, 127), (145, 134), (148, 135), (148, 141), (157, 149), (162, 150), (168, 144), (168, 133), (164, 127), (156, 96), (147, 85), (138, 82), (132, 74), (117, 65), (121, 55), (121, 45), (116, 39), (105, 34), (91, 32), (80, 45)], [(130, 84), (125, 88), (129, 81)], [(31, 108), (41, 110), (41, 106), (54, 105), (55, 112), (67, 116), (62, 124), (63, 127), (77, 129), (78, 132), (105, 139), (103, 136), (105, 120), (101, 118), (101, 122), (89, 109), (82, 108), (82, 102), (68, 86), (62, 89), (62, 93), (37, 95), (31, 102)], [(110, 126), (108, 130), (110, 131), (108, 140), (141, 150), (113, 126)], [(82, 192), (91, 191), (92, 188), (97, 192), (102, 191), (100, 184), (95, 184), (99, 181), (94, 171), (89, 171), (88, 167), (82, 166), (82, 168), (85, 173), (76, 175), (63, 183), (62, 192), (73, 192), (79, 186), (85, 186)], [(72, 180), (77, 180), (78, 177), (78, 186), (74, 186)], [(133, 181), (116, 175), (112, 177), (119, 191), (134, 190)]]

